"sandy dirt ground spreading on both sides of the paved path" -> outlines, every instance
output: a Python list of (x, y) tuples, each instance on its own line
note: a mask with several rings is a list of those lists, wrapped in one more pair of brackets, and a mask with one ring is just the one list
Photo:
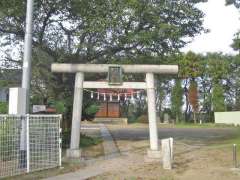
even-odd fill
[[(84, 126), (88, 126), (84, 124)], [(239, 180), (240, 170), (233, 170), (233, 139), (239, 128), (158, 128), (159, 139), (174, 138), (174, 164), (164, 170), (160, 162), (146, 162), (149, 148), (147, 124), (107, 125), (119, 156), (105, 158), (102, 144), (82, 150), (85, 161), (63, 163), (51, 169), (9, 179), (42, 179), (84, 169), (101, 169), (102, 174), (90, 180)], [(100, 136), (98, 128), (82, 130), (89, 136)], [(240, 162), (240, 153), (238, 154)]]

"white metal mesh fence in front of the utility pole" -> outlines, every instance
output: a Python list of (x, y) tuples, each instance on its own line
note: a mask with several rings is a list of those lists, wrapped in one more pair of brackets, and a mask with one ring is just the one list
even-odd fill
[(0, 178), (61, 166), (61, 115), (0, 115)]

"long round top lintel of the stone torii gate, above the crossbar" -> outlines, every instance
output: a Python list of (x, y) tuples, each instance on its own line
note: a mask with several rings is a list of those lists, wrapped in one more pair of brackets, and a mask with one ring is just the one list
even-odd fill
[(51, 66), (52, 72), (62, 73), (107, 73), (111, 66), (120, 66), (124, 73), (177, 74), (178, 65), (117, 65), (117, 64), (58, 64)]

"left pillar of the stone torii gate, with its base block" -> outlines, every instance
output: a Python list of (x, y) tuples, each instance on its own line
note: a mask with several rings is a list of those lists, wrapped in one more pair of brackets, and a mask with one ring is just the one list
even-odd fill
[(83, 81), (84, 73), (78, 72), (75, 75), (73, 114), (72, 114), (72, 130), (70, 149), (67, 150), (67, 157), (80, 158), (80, 127), (82, 118), (82, 102), (83, 102)]

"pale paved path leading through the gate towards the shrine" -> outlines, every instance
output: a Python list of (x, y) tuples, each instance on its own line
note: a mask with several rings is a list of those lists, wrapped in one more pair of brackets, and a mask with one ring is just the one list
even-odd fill
[[(111, 159), (113, 157), (117, 157), (120, 155), (119, 150), (116, 147), (110, 132), (108, 131), (108, 129), (104, 124), (99, 124), (99, 125), (87, 124), (87, 125), (82, 125), (82, 128), (85, 130), (87, 130), (88, 128), (89, 129), (100, 128), (101, 136), (103, 138), (103, 148), (104, 148), (104, 154), (105, 154), (104, 159)], [(67, 173), (67, 174), (63, 174), (55, 177), (50, 177), (50, 178), (47, 178), (46, 180), (65, 180), (65, 179), (83, 180), (83, 179), (87, 179), (90, 177), (103, 174), (107, 171), (108, 169), (104, 168), (104, 166), (99, 166), (95, 164), (95, 165), (91, 165), (86, 168), (80, 169), (76, 172)]]

